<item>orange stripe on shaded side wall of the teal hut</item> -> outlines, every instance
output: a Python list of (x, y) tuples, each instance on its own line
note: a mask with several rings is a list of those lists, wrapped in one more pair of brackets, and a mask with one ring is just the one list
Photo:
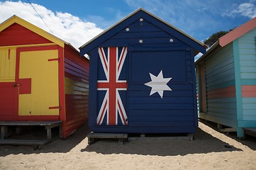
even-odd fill
[(235, 86), (207, 91), (208, 98), (233, 98), (235, 97)]

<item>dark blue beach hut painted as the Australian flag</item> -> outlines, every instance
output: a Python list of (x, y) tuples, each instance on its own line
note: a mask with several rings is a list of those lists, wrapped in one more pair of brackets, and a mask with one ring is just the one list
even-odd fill
[(192, 133), (198, 40), (139, 8), (80, 47), (93, 132)]

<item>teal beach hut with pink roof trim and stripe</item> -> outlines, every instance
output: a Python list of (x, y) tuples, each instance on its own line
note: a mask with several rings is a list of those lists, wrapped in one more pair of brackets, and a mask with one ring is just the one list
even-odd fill
[(253, 18), (219, 38), (196, 61), (199, 118), (226, 125), (238, 137), (256, 128), (255, 37)]

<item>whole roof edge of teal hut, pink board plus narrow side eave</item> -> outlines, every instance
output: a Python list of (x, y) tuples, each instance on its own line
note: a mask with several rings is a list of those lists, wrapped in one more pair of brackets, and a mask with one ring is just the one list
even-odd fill
[(221, 38), (218, 38), (218, 40), (213, 44), (213, 46), (211, 46), (206, 54), (202, 55), (199, 60), (196, 60), (196, 64), (201, 62), (201, 60), (203, 60), (209, 53), (213, 52), (213, 50), (218, 49), (218, 47), (225, 47), (230, 42), (233, 42), (234, 40), (240, 38), (242, 35), (245, 35), (245, 33), (248, 33), (254, 28), (256, 28), (256, 17), (252, 18), (250, 21), (247, 21), (247, 23), (244, 23), (238, 28), (231, 30), (229, 33), (223, 35)]

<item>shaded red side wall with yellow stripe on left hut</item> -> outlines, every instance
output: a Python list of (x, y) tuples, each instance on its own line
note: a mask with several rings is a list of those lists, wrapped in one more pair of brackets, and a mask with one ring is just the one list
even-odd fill
[(89, 60), (65, 45), (65, 108), (63, 137), (88, 120)]

